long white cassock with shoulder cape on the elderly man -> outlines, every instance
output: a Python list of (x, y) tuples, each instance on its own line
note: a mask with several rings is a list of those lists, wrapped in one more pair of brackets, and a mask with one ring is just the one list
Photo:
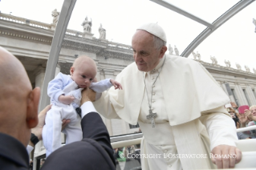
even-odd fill
[[(124, 90), (104, 91), (94, 105), (108, 119), (140, 124), (142, 169), (216, 168), (210, 151), (220, 144), (235, 146), (234, 120), (224, 108), (230, 99), (200, 63), (165, 55), (152, 71), (138, 71), (132, 63), (116, 80)], [(152, 112), (157, 114), (154, 128), (146, 118), (151, 95)]]

